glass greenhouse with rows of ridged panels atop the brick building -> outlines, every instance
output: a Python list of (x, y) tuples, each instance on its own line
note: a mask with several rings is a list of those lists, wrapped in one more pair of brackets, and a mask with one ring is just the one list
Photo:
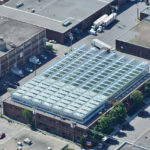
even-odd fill
[(145, 62), (82, 45), (11, 96), (18, 103), (84, 124), (148, 68)]

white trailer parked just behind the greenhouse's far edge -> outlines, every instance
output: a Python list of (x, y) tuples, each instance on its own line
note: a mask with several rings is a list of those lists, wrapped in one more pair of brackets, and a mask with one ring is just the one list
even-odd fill
[(112, 48), (110, 45), (108, 45), (98, 39), (93, 39), (91, 44), (99, 49), (102, 49), (102, 48), (111, 49)]

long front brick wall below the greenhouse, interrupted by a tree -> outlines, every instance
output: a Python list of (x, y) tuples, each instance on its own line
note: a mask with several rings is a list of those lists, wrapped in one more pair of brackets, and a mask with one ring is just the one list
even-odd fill
[[(15, 103), (3, 102), (3, 112), (6, 116), (13, 118), (15, 120), (26, 123), (25, 118), (22, 114), (22, 105), (15, 105)], [(29, 109), (31, 112), (32, 110)], [(86, 129), (76, 125), (73, 129), (71, 128), (71, 122), (67, 120), (62, 120), (55, 116), (47, 116), (42, 113), (36, 113), (36, 127), (42, 130), (57, 134), (61, 137), (75, 140), (80, 142), (80, 137), (86, 134)]]

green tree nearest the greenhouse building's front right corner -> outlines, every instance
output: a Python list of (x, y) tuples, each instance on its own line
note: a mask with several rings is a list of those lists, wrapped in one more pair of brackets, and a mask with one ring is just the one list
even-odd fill
[(104, 134), (109, 134), (113, 130), (111, 120), (107, 116), (103, 116), (98, 120), (98, 131)]

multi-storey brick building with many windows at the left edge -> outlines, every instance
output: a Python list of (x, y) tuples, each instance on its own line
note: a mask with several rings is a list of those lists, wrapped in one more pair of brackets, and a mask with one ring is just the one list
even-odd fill
[(45, 47), (43, 28), (0, 17), (0, 77)]

